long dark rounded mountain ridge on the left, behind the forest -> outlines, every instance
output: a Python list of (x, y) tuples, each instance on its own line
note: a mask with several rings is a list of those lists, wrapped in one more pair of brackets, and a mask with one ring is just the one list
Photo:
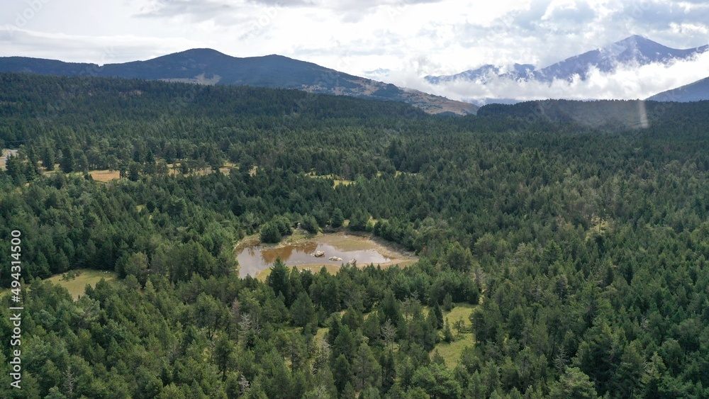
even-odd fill
[(428, 113), (475, 113), (477, 106), (422, 91), (357, 77), (312, 62), (281, 55), (231, 57), (212, 49), (191, 49), (146, 61), (120, 64), (62, 62), (29, 57), (0, 57), (0, 72), (60, 76), (121, 77), (196, 84), (235, 84), (312, 93), (402, 101)]

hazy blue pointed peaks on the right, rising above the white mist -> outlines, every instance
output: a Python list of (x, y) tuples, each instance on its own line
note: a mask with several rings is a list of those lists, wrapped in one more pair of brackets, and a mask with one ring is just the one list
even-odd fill
[(669, 64), (676, 60), (687, 60), (709, 50), (709, 45), (678, 50), (666, 47), (640, 35), (632, 35), (596, 50), (569, 57), (542, 69), (535, 69), (531, 64), (515, 64), (510, 71), (500, 73), (503, 67), (487, 64), (478, 69), (469, 69), (459, 74), (427, 76), (431, 84), (441, 84), (456, 80), (468, 80), (480, 84), (486, 83), (491, 73), (498, 77), (518, 81), (552, 82), (554, 79), (572, 80), (574, 77), (586, 79), (592, 69), (600, 72), (614, 72), (619, 66), (642, 66), (653, 62)]

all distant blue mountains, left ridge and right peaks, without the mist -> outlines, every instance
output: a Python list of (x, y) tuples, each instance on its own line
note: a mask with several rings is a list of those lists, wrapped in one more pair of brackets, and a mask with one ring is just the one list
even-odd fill
[[(536, 69), (533, 64), (513, 64), (510, 67), (485, 64), (476, 69), (452, 75), (427, 76), (433, 85), (462, 82), (485, 85), (492, 79), (509, 79), (520, 84), (554, 81), (572, 82), (587, 79), (593, 71), (612, 73), (619, 68), (637, 68), (652, 63), (671, 64), (690, 60), (709, 50), (709, 45), (684, 50), (673, 49), (639, 35), (632, 35), (612, 45), (569, 57), (547, 67)], [(485, 103), (517, 103), (514, 92), (505, 99), (470, 99), (454, 101), (414, 89), (404, 89), (380, 82), (388, 69), (375, 69), (365, 74), (374, 79), (357, 77), (322, 67), (312, 62), (294, 60), (281, 55), (262, 57), (232, 57), (211, 49), (192, 49), (164, 55), (152, 60), (116, 64), (88, 64), (45, 60), (29, 57), (0, 57), (0, 72), (26, 72), (63, 76), (121, 77), (196, 84), (233, 84), (269, 88), (298, 89), (318, 94), (354, 96), (365, 99), (402, 101), (428, 113), (476, 113)], [(708, 73), (709, 74), (709, 71)], [(437, 91), (431, 89), (431, 91)], [(655, 101), (709, 100), (709, 78), (681, 88), (649, 97)]]

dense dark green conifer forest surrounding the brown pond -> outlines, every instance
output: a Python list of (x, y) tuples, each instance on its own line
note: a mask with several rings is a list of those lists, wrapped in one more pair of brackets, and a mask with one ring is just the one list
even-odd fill
[[(632, 128), (562, 115), (584, 104), (447, 118), (0, 74), (0, 259), (21, 231), (24, 306), (22, 388), (3, 339), (1, 396), (709, 396), (709, 103)], [(243, 237), (342, 218), (419, 262), (239, 278)], [(76, 301), (43, 281), (79, 268), (121, 279)]]

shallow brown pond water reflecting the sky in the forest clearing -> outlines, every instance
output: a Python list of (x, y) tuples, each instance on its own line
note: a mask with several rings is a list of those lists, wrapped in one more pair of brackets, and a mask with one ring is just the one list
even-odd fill
[[(372, 243), (374, 247), (374, 243)], [(323, 257), (313, 257), (311, 254), (316, 251), (325, 252)], [(357, 264), (382, 264), (389, 262), (390, 257), (380, 254), (376, 249), (359, 249), (345, 250), (337, 248), (330, 244), (306, 240), (302, 242), (286, 243), (279, 247), (269, 245), (253, 245), (242, 249), (237, 254), (236, 259), (239, 261), (240, 275), (255, 276), (259, 271), (268, 269), (276, 262), (276, 259), (281, 257), (281, 260), (287, 266), (299, 266), (305, 264), (332, 264), (339, 266), (340, 264), (350, 262), (350, 259), (357, 259)], [(340, 257), (342, 261), (331, 261), (329, 257)]]

